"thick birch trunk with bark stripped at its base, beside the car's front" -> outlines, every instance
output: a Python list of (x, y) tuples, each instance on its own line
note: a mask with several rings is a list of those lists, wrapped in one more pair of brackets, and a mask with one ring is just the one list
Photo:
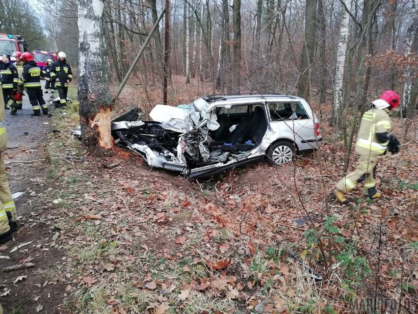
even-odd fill
[(112, 99), (103, 29), (103, 0), (78, 0), (78, 101), (81, 140), (89, 148), (111, 149)]

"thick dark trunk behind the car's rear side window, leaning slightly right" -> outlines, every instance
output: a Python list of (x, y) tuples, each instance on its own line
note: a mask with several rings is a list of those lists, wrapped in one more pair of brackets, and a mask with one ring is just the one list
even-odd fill
[(316, 35), (316, 5), (318, 0), (306, 0), (305, 8), (305, 36), (300, 57), (300, 76), (298, 81), (298, 95), (309, 101), (311, 84), (311, 65), (315, 52)]

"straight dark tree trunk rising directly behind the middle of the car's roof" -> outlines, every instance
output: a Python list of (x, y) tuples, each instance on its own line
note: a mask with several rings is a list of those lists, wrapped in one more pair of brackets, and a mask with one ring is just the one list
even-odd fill
[(233, 6), (234, 20), (234, 77), (233, 93), (241, 91), (241, 0), (234, 0)]

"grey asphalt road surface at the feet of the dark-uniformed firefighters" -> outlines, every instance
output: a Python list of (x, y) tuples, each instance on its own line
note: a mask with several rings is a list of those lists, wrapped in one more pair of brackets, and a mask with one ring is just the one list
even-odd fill
[[(42, 89), (45, 91), (45, 80), (41, 80)], [(51, 93), (43, 94), (45, 102), (49, 105), (51, 101)], [(53, 94), (58, 97), (58, 93), (55, 91)], [(45, 136), (46, 131), (49, 129), (51, 118), (41, 113), (38, 117), (33, 117), (32, 106), (29, 103), (29, 99), (26, 96), (23, 97), (23, 109), (17, 111), (17, 115), (10, 115), (10, 110), (6, 110), (6, 132), (7, 132), (7, 148), (35, 148), (37, 147), (42, 138)]]

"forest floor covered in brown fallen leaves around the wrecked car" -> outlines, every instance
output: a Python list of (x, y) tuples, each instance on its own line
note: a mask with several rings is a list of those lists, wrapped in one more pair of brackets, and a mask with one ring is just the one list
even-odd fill
[[(179, 79), (170, 102), (211, 93), (193, 82), (182, 90)], [(159, 97), (130, 85), (114, 114), (136, 104), (148, 112)], [(197, 181), (120, 149), (90, 157), (70, 136), (77, 110), (55, 110), (36, 152), (6, 160), (46, 158), (8, 165), (13, 192), (26, 196), (17, 199), (22, 229), (0, 247), (10, 260), (0, 263), (35, 265), (1, 274), (6, 313), (416, 313), (417, 120), (402, 138), (404, 121), (393, 119), (403, 147), (379, 160), (383, 198), (367, 202), (358, 188), (340, 206), (328, 193), (342, 174), (343, 141), (324, 117), (320, 155)]]

